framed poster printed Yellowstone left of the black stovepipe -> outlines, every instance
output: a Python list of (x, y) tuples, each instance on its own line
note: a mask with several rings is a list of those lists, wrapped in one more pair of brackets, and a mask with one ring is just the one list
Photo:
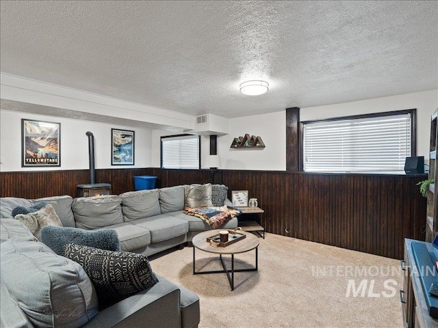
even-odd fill
[(21, 167), (61, 166), (61, 123), (21, 120)]

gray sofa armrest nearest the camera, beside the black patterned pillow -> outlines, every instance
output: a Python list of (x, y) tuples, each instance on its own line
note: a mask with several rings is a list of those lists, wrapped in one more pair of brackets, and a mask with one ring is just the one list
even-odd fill
[(180, 290), (166, 279), (99, 312), (83, 327), (181, 328)]

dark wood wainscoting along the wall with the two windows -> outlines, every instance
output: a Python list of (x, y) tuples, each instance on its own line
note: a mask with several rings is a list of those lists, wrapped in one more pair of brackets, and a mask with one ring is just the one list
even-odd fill
[[(160, 187), (210, 181), (208, 170), (147, 169)], [(426, 176), (220, 170), (231, 190), (248, 190), (267, 232), (403, 258), (404, 238), (424, 240)]]

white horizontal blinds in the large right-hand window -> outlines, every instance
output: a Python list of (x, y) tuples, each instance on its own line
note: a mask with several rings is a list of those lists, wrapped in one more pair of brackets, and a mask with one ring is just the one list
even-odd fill
[(411, 156), (411, 114), (309, 122), (305, 172), (403, 171)]

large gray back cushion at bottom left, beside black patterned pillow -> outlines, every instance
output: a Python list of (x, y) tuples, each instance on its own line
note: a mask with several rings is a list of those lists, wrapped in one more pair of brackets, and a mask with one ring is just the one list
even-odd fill
[(49, 247), (12, 238), (1, 244), (1, 279), (36, 327), (79, 327), (98, 312), (82, 267)]

